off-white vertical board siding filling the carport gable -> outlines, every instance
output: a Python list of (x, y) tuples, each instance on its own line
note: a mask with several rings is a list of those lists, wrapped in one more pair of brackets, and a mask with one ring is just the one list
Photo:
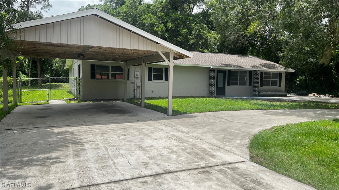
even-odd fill
[(94, 15), (23, 28), (17, 40), (171, 51)]

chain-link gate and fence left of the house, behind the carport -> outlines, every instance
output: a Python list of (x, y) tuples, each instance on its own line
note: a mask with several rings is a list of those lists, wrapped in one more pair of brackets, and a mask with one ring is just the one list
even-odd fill
[(81, 79), (77, 77), (19, 78), (18, 102), (46, 102), (81, 99)]

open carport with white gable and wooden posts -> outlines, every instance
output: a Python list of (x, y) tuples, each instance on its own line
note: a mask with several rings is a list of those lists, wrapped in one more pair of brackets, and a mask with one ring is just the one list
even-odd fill
[[(97, 8), (17, 23), (21, 30), (13, 37), (19, 47), (7, 52), (15, 56), (67, 58), (117, 62), (124, 67), (142, 65), (141, 107), (145, 105), (147, 64), (168, 64), (167, 115), (172, 115), (173, 60), (192, 57), (192, 53), (127, 24)], [(6, 56), (5, 56), (6, 57)], [(25, 58), (26, 58), (25, 57)], [(20, 63), (20, 62), (19, 62)], [(13, 61), (13, 99), (16, 103), (16, 66)], [(4, 110), (8, 110), (7, 71), (3, 69)], [(127, 77), (124, 77), (127, 98)]]

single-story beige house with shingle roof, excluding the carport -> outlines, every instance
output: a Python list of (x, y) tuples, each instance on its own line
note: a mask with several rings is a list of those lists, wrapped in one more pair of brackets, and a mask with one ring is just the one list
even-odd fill
[[(251, 55), (192, 52), (174, 60), (173, 96), (286, 96), (283, 66)], [(67, 60), (70, 77), (82, 77), (83, 100), (124, 97), (119, 62)], [(167, 96), (168, 65), (146, 65), (145, 97)], [(141, 97), (141, 66), (127, 71), (127, 97)]]

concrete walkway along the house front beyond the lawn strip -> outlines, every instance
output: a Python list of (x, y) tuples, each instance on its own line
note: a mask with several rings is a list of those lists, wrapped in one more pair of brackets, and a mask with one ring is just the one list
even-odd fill
[(320, 101), (328, 103), (339, 103), (339, 98), (325, 98), (325, 97), (313, 97), (313, 96), (296, 96), (287, 95), (284, 97), (258, 97), (258, 96), (219, 96), (223, 98), (250, 98), (250, 99), (276, 99), (276, 100), (293, 100), (293, 101)]

